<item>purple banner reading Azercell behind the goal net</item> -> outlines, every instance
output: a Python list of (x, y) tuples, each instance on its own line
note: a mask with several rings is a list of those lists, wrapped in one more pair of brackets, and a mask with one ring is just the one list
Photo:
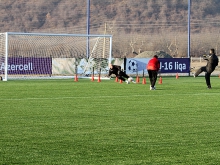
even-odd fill
[[(4, 72), (5, 63), (0, 63), (0, 71)], [(52, 74), (51, 58), (9, 57), (8, 74)]]

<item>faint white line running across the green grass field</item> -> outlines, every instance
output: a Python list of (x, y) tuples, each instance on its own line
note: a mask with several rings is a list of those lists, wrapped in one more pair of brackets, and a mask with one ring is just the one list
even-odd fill
[(146, 95), (121, 95), (121, 96), (71, 96), (71, 97), (30, 97), (30, 98), (0, 98), (0, 101), (21, 101), (21, 100), (63, 100), (63, 99), (96, 99), (96, 98), (132, 98), (132, 97), (161, 97), (161, 96), (205, 96), (220, 95), (220, 93), (183, 93), (183, 94), (146, 94)]

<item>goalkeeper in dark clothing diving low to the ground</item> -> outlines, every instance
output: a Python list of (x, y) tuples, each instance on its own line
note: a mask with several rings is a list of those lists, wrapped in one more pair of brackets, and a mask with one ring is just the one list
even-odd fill
[[(128, 80), (126, 80), (129, 78), (129, 76), (121, 70), (121, 66), (109, 64), (108, 77), (110, 77), (112, 74), (115, 74), (118, 79), (129, 84)], [(131, 81), (135, 83), (133, 79), (131, 79)]]

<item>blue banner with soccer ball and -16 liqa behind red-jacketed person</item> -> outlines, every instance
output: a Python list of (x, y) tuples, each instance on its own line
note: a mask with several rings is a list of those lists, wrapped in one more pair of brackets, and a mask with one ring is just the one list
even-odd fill
[[(142, 73), (146, 70), (150, 58), (128, 58), (126, 60), (126, 73)], [(189, 58), (159, 58), (161, 73), (189, 73)]]

